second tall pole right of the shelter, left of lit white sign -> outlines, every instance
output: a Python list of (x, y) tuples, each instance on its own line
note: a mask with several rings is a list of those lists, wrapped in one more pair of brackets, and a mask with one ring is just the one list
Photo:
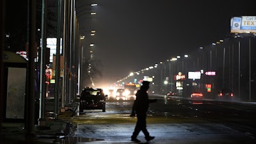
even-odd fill
[(45, 125), (45, 49), (46, 49), (46, 12), (47, 0), (42, 0), (42, 45), (40, 62), (40, 110), (38, 125)]

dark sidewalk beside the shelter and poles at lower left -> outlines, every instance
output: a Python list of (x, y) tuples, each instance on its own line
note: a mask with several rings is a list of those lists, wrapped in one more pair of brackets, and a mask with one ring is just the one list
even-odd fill
[(69, 108), (67, 111), (61, 112), (56, 119), (54, 119), (53, 114), (48, 111), (47, 116), (45, 116), (45, 125), (35, 125), (35, 134), (33, 134), (33, 136), (26, 136), (24, 123), (5, 122), (1, 124), (1, 144), (57, 143), (56, 139), (68, 134), (71, 124), (69, 121), (63, 119), (74, 116), (73, 109), (74, 108)]

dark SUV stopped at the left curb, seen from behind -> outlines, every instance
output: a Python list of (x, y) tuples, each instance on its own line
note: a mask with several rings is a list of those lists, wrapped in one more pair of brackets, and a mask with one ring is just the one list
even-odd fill
[(83, 88), (80, 100), (79, 111), (83, 113), (86, 109), (102, 109), (106, 111), (106, 97), (101, 88)]

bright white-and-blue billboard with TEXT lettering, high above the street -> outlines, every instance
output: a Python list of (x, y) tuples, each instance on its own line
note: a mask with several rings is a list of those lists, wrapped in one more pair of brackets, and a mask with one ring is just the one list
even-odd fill
[(230, 33), (256, 33), (256, 16), (232, 17)]

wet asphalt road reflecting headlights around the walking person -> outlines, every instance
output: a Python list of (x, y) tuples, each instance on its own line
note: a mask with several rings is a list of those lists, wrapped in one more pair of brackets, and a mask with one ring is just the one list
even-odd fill
[[(180, 97), (158, 99), (150, 104), (147, 128), (156, 138), (150, 143), (255, 143), (254, 104)], [(86, 111), (68, 118), (74, 123), (61, 143), (132, 143), (136, 118), (130, 117), (131, 100), (108, 99), (106, 112)], [(146, 143), (143, 133), (138, 136)]]

